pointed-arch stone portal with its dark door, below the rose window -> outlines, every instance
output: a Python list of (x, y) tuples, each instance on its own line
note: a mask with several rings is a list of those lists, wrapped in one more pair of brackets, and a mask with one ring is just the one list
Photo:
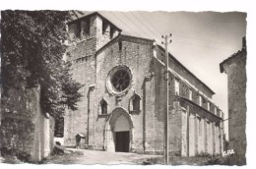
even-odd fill
[(133, 124), (131, 116), (121, 107), (116, 108), (105, 124), (105, 150), (129, 152), (132, 147)]

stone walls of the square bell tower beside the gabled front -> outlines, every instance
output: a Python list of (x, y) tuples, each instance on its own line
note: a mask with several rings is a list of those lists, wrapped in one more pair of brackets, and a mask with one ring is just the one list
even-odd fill
[[(72, 24), (69, 32), (72, 34), (75, 31), (74, 26), (80, 25), (84, 20)], [(83, 134), (87, 137), (87, 144), (95, 144), (95, 121), (96, 121), (96, 50), (105, 45), (112, 38), (117, 36), (118, 31), (114, 29), (113, 36), (110, 37), (110, 25), (106, 23), (105, 31), (102, 30), (103, 20), (95, 15), (85, 19), (90, 21), (90, 34), (81, 36), (71, 43), (66, 54), (68, 62), (72, 63), (71, 74), (73, 79), (84, 84), (81, 92), (84, 94), (81, 102), (78, 103), (78, 110), (66, 110), (64, 120), (64, 144), (75, 145), (75, 136)], [(73, 26), (74, 25), (74, 26)], [(79, 29), (79, 28), (78, 28)], [(80, 30), (82, 30), (81, 28)]]

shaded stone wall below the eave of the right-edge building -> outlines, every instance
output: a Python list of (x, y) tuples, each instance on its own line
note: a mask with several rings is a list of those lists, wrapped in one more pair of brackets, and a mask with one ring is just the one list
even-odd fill
[[(246, 152), (246, 72), (245, 57), (230, 65), (227, 69), (228, 82), (228, 148), (234, 149), (239, 161), (243, 161)], [(244, 157), (245, 158), (245, 157)]]

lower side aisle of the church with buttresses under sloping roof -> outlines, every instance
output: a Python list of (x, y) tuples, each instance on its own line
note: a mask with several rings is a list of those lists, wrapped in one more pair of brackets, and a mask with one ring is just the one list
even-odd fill
[(177, 112), (179, 110), (183, 112), (182, 156), (196, 156), (202, 153), (220, 154), (222, 152), (223, 122), (220, 117), (207, 112), (206, 109), (185, 98), (180, 98), (175, 109)]

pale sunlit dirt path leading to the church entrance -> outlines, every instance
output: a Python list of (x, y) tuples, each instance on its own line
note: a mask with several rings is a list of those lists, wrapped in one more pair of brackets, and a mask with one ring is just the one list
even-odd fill
[[(160, 157), (160, 155), (136, 154), (127, 152), (107, 152), (88, 149), (73, 149), (82, 151), (84, 155), (72, 158), (75, 164), (142, 164), (149, 158)], [(72, 163), (73, 163), (72, 162)]]

